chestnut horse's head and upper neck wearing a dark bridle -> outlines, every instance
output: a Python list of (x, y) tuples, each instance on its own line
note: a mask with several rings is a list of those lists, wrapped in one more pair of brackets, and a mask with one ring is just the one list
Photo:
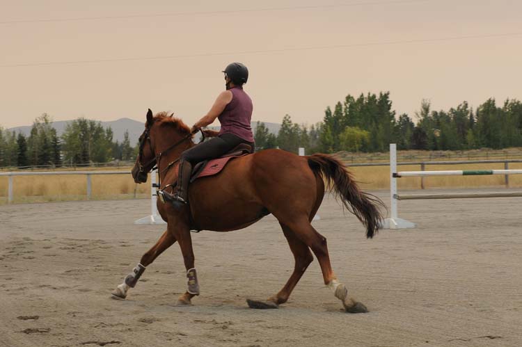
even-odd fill
[[(154, 168), (161, 155), (170, 150), (174, 152), (177, 145), (180, 145), (181, 150), (187, 149), (187, 145), (188, 147), (193, 145), (189, 140), (191, 137), (190, 128), (181, 120), (173, 118), (172, 115), (168, 116), (165, 112), (154, 116), (149, 108), (145, 130), (139, 137), (139, 154), (134, 168), (131, 170), (134, 181), (136, 183), (146, 182), (148, 172)], [(172, 145), (173, 141), (174, 145)], [(182, 146), (182, 143), (187, 143), (187, 145)], [(164, 152), (162, 153), (161, 150)]]

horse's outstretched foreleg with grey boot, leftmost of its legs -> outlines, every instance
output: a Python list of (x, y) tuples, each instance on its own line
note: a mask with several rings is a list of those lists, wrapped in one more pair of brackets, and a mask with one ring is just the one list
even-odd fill
[(157, 243), (153, 245), (152, 248), (150, 248), (150, 250), (148, 250), (143, 255), (143, 257), (141, 257), (139, 264), (136, 265), (136, 267), (132, 270), (132, 273), (125, 277), (123, 283), (116, 287), (116, 289), (112, 292), (112, 295), (116, 296), (117, 298), (125, 299), (127, 297), (127, 291), (129, 291), (129, 288), (134, 288), (139, 278), (145, 271), (145, 268), (152, 264), (152, 261), (161, 255), (164, 250), (171, 247), (171, 245), (173, 245), (175, 242), (175, 236), (173, 233), (168, 232), (167, 229), (163, 235), (161, 235)]

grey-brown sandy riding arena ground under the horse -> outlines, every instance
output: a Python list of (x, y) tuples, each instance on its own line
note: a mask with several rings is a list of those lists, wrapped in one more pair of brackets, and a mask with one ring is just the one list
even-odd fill
[(246, 298), (276, 293), (294, 266), (271, 216), (193, 234), (201, 296), (177, 307), (177, 244), (127, 300), (111, 299), (164, 230), (132, 224), (148, 200), (0, 207), (0, 346), (522, 346), (521, 201), (400, 202), (418, 228), (366, 240), (326, 196), (313, 224), (367, 314), (342, 312), (317, 261), (280, 309), (248, 309)]

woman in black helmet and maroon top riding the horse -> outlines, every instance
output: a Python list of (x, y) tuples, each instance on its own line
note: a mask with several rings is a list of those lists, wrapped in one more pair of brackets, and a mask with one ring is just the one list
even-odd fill
[(248, 80), (248, 69), (242, 63), (231, 63), (223, 71), (226, 90), (217, 97), (207, 115), (193, 125), (196, 132), (212, 124), (216, 118), (221, 122), (219, 136), (200, 143), (182, 153), (177, 178), (177, 193), (173, 195), (173, 204), (180, 208), (188, 203), (188, 188), (192, 166), (200, 161), (214, 159), (226, 154), (240, 143), (255, 149), (250, 122), (252, 118), (252, 100), (243, 90)]

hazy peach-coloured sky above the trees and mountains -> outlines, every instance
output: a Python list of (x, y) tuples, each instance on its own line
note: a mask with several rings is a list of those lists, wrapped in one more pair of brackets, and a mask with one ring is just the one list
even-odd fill
[(0, 0), (0, 125), (144, 120), (147, 108), (193, 124), (232, 61), (267, 122), (312, 124), (381, 90), (410, 115), (421, 99), (522, 99), (521, 13), (520, 0)]

